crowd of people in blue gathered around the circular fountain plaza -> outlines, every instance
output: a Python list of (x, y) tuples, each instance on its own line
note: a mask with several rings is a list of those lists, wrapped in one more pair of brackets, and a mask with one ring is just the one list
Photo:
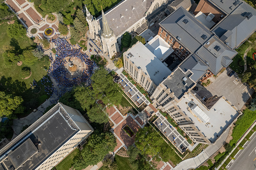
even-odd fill
[[(93, 66), (95, 63), (92, 63), (90, 58), (81, 51), (80, 46), (77, 44), (71, 45), (68, 41), (59, 37), (52, 39), (52, 42), (56, 46), (56, 54), (54, 60), (50, 57), (51, 65), (48, 73), (56, 80), (58, 87), (73, 87), (81, 83), (90, 84), (90, 78), (93, 74)], [(66, 57), (77, 57), (87, 65), (81, 70), (82, 73), (79, 76), (73, 78), (67, 77), (69, 72), (65, 69), (65, 64), (67, 63), (65, 60)]]

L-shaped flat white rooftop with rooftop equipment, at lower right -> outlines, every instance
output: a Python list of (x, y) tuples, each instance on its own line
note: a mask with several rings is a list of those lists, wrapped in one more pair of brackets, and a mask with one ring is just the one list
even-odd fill
[[(230, 104), (224, 99), (215, 103), (215, 105), (208, 110), (204, 107), (199, 100), (189, 92), (184, 95), (185, 98), (181, 98), (177, 104), (183, 112), (195, 123), (194, 125), (201, 130), (205, 137), (207, 137), (212, 143), (225, 131), (228, 125), (239, 115), (239, 113), (231, 107)], [(205, 121), (202, 121), (197, 114), (188, 109), (189, 102), (193, 101), (197, 107), (199, 107), (205, 115), (209, 117), (208, 125)], [(186, 104), (187, 102), (187, 104)], [(192, 112), (192, 113), (191, 113)]]

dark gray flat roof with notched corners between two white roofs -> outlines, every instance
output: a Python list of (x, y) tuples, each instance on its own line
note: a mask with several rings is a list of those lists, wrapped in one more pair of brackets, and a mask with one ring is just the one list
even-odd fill
[(185, 92), (188, 91), (188, 89), (192, 88), (194, 85), (196, 85), (195, 82), (193, 82), (190, 79), (190, 76), (192, 73), (190, 71), (183, 72), (179, 67), (173, 72), (172, 75), (170, 75), (168, 78), (166, 78), (163, 81), (163, 84), (170, 88), (171, 92), (174, 93), (174, 95), (180, 99)]

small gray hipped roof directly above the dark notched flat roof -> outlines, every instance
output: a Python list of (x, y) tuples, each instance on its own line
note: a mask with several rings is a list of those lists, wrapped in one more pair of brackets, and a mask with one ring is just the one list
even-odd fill
[(184, 72), (191, 70), (194, 74), (190, 78), (195, 82), (204, 76), (205, 72), (208, 70), (208, 66), (196, 55), (191, 55), (188, 57), (188, 59), (186, 59), (186, 61), (180, 65), (180, 68)]

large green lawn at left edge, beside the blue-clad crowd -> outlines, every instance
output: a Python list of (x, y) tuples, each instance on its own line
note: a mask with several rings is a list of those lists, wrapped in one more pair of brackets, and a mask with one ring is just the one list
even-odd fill
[[(23, 105), (26, 107), (26, 110), (23, 115), (19, 115), (19, 117), (23, 117), (31, 113), (31, 111), (40, 106), (46, 99), (49, 98), (49, 95), (46, 94), (44, 91), (44, 85), (41, 84), (40, 80), (43, 76), (47, 75), (47, 72), (44, 70), (44, 66), (47, 68), (50, 65), (49, 57), (43, 57), (41, 60), (38, 60), (36, 63), (34, 63), (30, 67), (32, 75), (28, 79), (21, 79), (19, 74), (21, 71), (21, 68), (26, 66), (25, 64), (22, 64), (21, 66), (18, 66), (17, 64), (13, 64), (10, 68), (6, 68), (3, 62), (2, 54), (4, 52), (3, 45), (12, 45), (15, 47), (15, 49), (23, 49), (28, 48), (31, 46), (29, 43), (29, 38), (24, 35), (21, 38), (18, 38), (17, 40), (11, 39), (7, 33), (7, 23), (3, 23), (0, 25), (0, 77), (1, 77), (1, 84), (4, 86), (4, 90), (8, 91), (14, 95), (21, 96), (24, 100)], [(41, 91), (36, 94), (33, 93), (30, 89), (30, 84), (35, 79), (41, 87)], [(49, 83), (51, 85), (51, 83)]]

